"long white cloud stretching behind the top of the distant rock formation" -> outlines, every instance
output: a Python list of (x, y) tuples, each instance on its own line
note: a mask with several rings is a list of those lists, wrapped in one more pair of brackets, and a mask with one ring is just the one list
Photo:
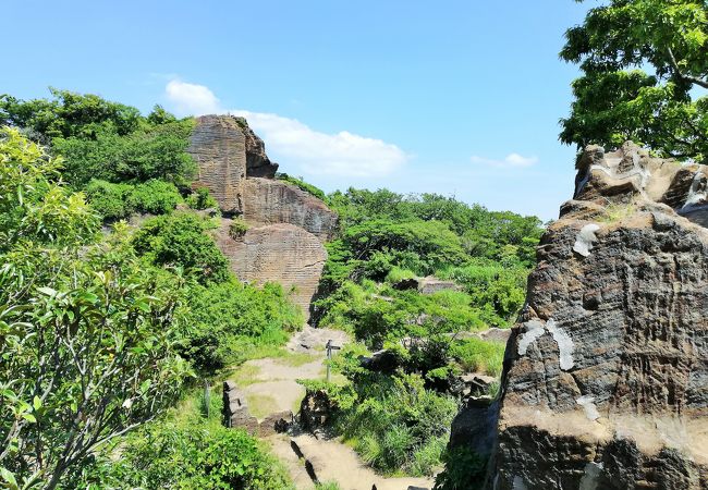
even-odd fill
[(248, 125), (266, 142), (267, 150), (282, 160), (284, 171), (296, 166), (303, 173), (314, 175), (381, 177), (400, 169), (408, 159), (401, 148), (381, 139), (347, 131), (321, 133), (278, 114), (225, 110), (204, 85), (173, 79), (168, 83), (166, 95), (180, 114), (229, 112), (246, 118)]

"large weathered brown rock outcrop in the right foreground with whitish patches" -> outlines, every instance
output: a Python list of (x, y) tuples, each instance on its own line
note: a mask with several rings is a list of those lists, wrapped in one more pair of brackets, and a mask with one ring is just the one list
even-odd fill
[(487, 488), (708, 488), (706, 175), (632, 144), (585, 151), (541, 240), (499, 409), (471, 407)]

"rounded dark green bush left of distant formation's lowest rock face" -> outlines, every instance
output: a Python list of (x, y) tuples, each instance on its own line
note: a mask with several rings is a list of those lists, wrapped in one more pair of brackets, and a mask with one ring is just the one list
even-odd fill
[(229, 279), (229, 261), (206, 233), (210, 222), (193, 212), (174, 212), (146, 221), (133, 246), (156, 266), (185, 269), (203, 284)]

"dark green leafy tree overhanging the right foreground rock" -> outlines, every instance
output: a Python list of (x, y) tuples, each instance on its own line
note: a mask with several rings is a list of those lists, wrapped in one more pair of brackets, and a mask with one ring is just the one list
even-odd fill
[[(582, 1), (582, 0), (579, 0)], [(660, 156), (708, 158), (708, 2), (610, 0), (565, 33), (560, 56), (579, 63), (560, 139)]]

